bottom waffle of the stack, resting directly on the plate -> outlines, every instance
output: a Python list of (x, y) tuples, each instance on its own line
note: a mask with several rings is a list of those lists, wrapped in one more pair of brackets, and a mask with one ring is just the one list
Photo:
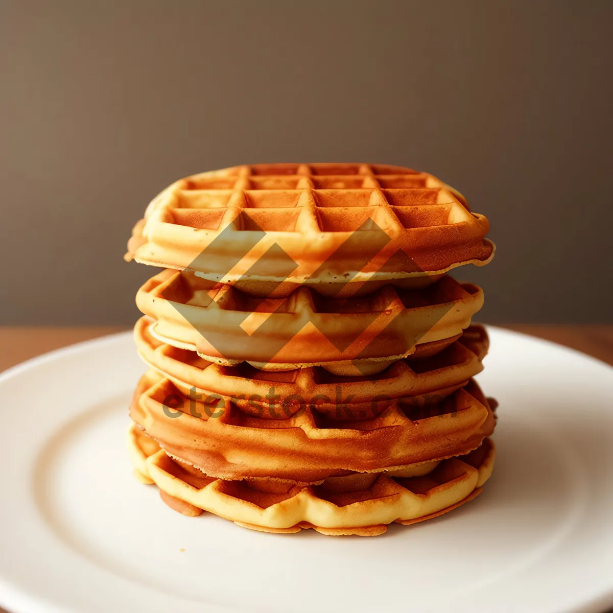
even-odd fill
[(128, 445), (135, 474), (154, 482), (173, 509), (188, 516), (204, 509), (242, 527), (275, 533), (314, 528), (326, 535), (375, 536), (391, 522), (413, 524), (439, 516), (481, 493), (495, 457), (486, 438), (478, 449), (444, 460), (421, 476), (358, 474), (288, 486), (198, 476), (146, 439), (131, 428)]

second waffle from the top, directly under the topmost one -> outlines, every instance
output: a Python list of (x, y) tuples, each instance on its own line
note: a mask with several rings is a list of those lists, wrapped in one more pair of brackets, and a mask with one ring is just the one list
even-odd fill
[(154, 337), (211, 362), (244, 360), (262, 370), (322, 365), (349, 375), (384, 370), (416, 345), (451, 343), (481, 308), (483, 292), (443, 276), (420, 289), (387, 285), (368, 297), (330, 298), (300, 287), (287, 298), (259, 299), (164, 270), (139, 289), (136, 303), (156, 320)]

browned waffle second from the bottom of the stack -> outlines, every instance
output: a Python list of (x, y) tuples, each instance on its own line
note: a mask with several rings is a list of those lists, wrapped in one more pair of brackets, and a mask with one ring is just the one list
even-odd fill
[[(289, 401), (289, 402), (288, 402)], [(350, 472), (398, 469), (465, 454), (493, 432), (492, 409), (474, 381), (439, 403), (386, 403), (376, 417), (330, 419), (318, 402), (285, 398), (278, 419), (245, 413), (231, 400), (186, 397), (150, 370), (130, 407), (135, 424), (166, 452), (211, 477), (313, 482)]]

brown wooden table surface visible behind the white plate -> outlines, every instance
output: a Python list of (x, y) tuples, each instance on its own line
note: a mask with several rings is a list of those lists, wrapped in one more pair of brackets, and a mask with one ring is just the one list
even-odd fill
[[(506, 327), (572, 347), (613, 365), (613, 325)], [(0, 327), (0, 371), (46, 351), (121, 330), (124, 328), (109, 326)], [(0, 609), (0, 613), (3, 611)]]

